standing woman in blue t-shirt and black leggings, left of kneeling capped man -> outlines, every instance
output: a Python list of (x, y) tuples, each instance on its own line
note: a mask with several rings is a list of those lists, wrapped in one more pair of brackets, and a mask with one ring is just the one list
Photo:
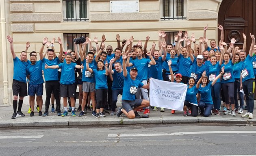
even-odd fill
[(89, 67), (88, 57), (86, 58), (86, 69), (93, 73), (95, 76), (95, 89), (96, 89), (96, 118), (105, 117), (104, 108), (105, 102), (107, 101), (108, 86), (108, 62), (106, 61), (104, 69), (103, 60), (98, 60), (97, 69), (91, 69)]

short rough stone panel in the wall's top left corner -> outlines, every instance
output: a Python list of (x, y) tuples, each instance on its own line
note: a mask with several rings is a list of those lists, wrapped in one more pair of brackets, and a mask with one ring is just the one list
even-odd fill
[(33, 3), (11, 3), (10, 4), (11, 12), (34, 12)]

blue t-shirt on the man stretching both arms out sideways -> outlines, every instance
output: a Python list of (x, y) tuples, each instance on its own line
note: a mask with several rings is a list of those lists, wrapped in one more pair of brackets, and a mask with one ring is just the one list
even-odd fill
[(61, 84), (62, 85), (71, 85), (76, 82), (74, 75), (76, 69), (76, 63), (60, 63), (59, 68), (61, 68)]

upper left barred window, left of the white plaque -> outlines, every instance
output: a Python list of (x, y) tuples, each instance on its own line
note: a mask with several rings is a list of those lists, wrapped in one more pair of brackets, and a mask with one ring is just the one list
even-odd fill
[(63, 0), (64, 21), (87, 21), (88, 0)]

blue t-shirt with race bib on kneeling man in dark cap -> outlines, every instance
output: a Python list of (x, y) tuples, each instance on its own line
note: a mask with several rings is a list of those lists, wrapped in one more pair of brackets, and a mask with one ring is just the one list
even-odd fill
[(137, 88), (141, 88), (143, 85), (144, 84), (137, 79), (132, 80), (132, 78), (130, 78), (130, 74), (127, 73), (126, 77), (124, 77), (124, 89), (122, 100), (134, 101)]

